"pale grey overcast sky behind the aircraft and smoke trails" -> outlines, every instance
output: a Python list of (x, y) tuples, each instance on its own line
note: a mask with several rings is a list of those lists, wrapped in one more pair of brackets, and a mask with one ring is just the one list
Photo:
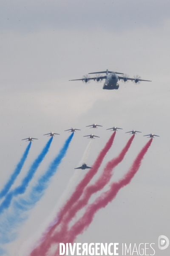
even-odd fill
[[(0, 1), (1, 188), (26, 148), (22, 139), (39, 140), (32, 143), (12, 188), (20, 184), (47, 142), (43, 134), (60, 135), (54, 137), (30, 187), (68, 137), (64, 130), (81, 129), (74, 134), (45, 195), (15, 230), (17, 238), (1, 245), (5, 256), (23, 256), (27, 241), (47, 222), (88, 145), (83, 136), (91, 130), (85, 126), (93, 123), (103, 127), (93, 130), (100, 138), (93, 141), (87, 160), (90, 166), (111, 136), (106, 129), (123, 128), (116, 133), (99, 172), (124, 147), (130, 137), (126, 131), (142, 131), (116, 167), (112, 181), (127, 172), (147, 142), (142, 135), (152, 132), (160, 137), (153, 140), (132, 182), (97, 212), (77, 242), (152, 242), (156, 256), (170, 254), (169, 248), (161, 253), (157, 248), (158, 236), (170, 239), (169, 10), (167, 0)], [(103, 81), (68, 81), (106, 69), (152, 82), (120, 81), (119, 90), (102, 90)], [(79, 180), (86, 172), (82, 171)]]

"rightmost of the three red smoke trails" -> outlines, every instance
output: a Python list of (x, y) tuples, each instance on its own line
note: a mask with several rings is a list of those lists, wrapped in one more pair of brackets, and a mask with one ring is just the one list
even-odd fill
[(97, 198), (93, 204), (89, 205), (85, 214), (82, 216), (82, 218), (79, 219), (79, 221), (77, 221), (71, 227), (70, 231), (66, 236), (65, 241), (62, 241), (62, 243), (65, 243), (65, 242), (72, 243), (76, 239), (77, 235), (82, 233), (91, 224), (91, 221), (94, 218), (94, 214), (99, 209), (104, 208), (109, 202), (111, 202), (113, 198), (116, 197), (117, 193), (119, 192), (119, 189), (121, 189), (122, 187), (130, 183), (130, 181), (138, 171), (142, 163), (142, 159), (146, 154), (148, 148), (150, 147), (151, 142), (152, 142), (152, 139), (150, 139), (147, 142), (147, 144), (142, 148), (142, 150), (139, 152), (138, 156), (136, 157), (135, 161), (133, 162), (133, 165), (131, 166), (127, 174), (118, 182), (112, 183), (110, 190), (102, 193), (102, 195), (99, 198)]

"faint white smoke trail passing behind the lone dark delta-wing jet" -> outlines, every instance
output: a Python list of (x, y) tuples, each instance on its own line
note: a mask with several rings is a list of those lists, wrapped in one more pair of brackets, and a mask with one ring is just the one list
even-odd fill
[[(82, 156), (82, 159), (79, 161), (78, 166), (81, 166), (82, 163), (85, 163), (86, 160), (88, 159), (88, 155), (92, 146), (92, 141), (90, 140), (90, 142), (88, 143), (87, 147), (85, 148), (85, 152)], [(60, 207), (62, 206), (62, 204), (66, 201), (66, 199), (68, 198), (68, 196), (70, 195), (71, 190), (73, 189), (80, 173), (82, 172), (81, 169), (77, 169), (74, 171), (73, 176), (71, 177), (71, 179), (68, 182), (68, 185), (65, 189), (65, 191), (63, 192), (63, 194), (61, 195), (61, 197), (59, 198), (57, 204), (55, 205), (53, 211), (51, 212), (51, 214), (48, 216), (48, 218), (42, 223), (42, 225), (40, 226), (39, 230), (37, 230), (36, 233), (34, 233), (34, 235), (32, 234), (31, 237), (29, 239), (27, 239), (20, 247), (19, 253), (17, 254), (18, 256), (26, 256), (29, 255), (31, 250), (33, 248), (31, 248), (32, 246), (34, 246), (33, 244), (35, 244), (35, 241), (37, 241), (41, 236), (42, 233), (44, 232), (44, 230), (47, 230), (48, 227), (50, 227), (51, 225), (54, 225), (54, 223), (57, 222), (57, 212), (59, 211)], [(55, 219), (55, 222), (54, 222)], [(38, 238), (38, 239), (37, 239)], [(37, 246), (37, 243), (36, 243)], [(31, 250), (30, 250), (31, 248)]]

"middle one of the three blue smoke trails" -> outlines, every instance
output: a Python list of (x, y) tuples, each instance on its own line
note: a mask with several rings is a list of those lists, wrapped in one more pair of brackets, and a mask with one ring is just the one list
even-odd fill
[(34, 160), (34, 163), (31, 165), (30, 169), (28, 170), (26, 177), (22, 180), (21, 185), (6, 195), (6, 198), (4, 199), (2, 204), (0, 204), (0, 214), (3, 212), (4, 209), (10, 206), (11, 200), (14, 196), (21, 195), (26, 191), (28, 183), (31, 181), (40, 163), (44, 159), (45, 155), (48, 153), (52, 140), (53, 140), (53, 137), (51, 137), (50, 140), (48, 140), (48, 143), (42, 149), (39, 156), (36, 158), (36, 160)]

